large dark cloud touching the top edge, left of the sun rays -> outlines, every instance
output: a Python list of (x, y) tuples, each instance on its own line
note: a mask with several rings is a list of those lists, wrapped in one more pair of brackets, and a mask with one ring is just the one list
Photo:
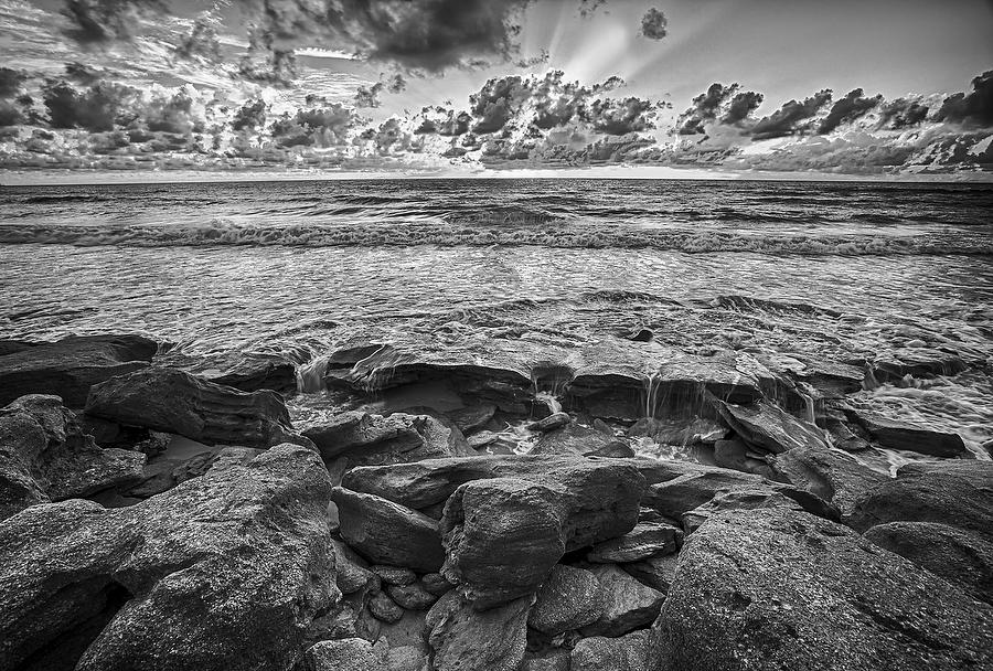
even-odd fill
[(440, 72), (509, 60), (527, 0), (241, 0), (280, 42), (352, 50), (371, 61)]

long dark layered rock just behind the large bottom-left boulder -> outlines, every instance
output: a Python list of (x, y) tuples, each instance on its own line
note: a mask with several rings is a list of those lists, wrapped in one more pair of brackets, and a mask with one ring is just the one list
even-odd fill
[(301, 440), (276, 392), (247, 394), (170, 369), (150, 368), (94, 385), (86, 413), (204, 445), (265, 448)]

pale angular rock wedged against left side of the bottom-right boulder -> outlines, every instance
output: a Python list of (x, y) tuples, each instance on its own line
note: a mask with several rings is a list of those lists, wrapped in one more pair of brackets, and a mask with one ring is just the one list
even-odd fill
[(595, 566), (590, 572), (600, 583), (604, 613), (580, 629), (583, 636), (621, 636), (650, 624), (659, 615), (665, 600), (661, 592), (636, 581), (615, 564)]

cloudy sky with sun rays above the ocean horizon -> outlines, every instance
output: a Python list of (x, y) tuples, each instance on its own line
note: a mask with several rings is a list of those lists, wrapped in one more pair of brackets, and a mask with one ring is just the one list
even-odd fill
[(0, 0), (0, 182), (993, 181), (993, 2)]

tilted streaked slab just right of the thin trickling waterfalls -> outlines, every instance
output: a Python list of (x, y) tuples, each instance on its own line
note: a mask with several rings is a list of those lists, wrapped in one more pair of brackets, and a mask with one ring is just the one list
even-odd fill
[(768, 401), (749, 405), (722, 403), (720, 416), (749, 445), (781, 454), (796, 447), (828, 449), (824, 434)]

